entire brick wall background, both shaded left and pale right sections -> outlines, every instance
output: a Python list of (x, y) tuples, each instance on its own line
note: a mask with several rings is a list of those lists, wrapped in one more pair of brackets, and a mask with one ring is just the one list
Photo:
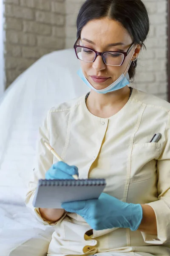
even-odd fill
[[(143, 0), (150, 15), (133, 86), (167, 99), (167, 0)], [(84, 0), (4, 0), (6, 78), (10, 84), (45, 53), (72, 48)]]

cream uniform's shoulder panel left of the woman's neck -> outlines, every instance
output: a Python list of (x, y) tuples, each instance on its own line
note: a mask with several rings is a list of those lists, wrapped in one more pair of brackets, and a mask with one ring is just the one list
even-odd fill
[(85, 100), (86, 94), (83, 94), (82, 96), (72, 99), (68, 102), (63, 102), (55, 107), (52, 107), (48, 112), (51, 113), (61, 113), (61, 112), (69, 112), (73, 109), (76, 109), (79, 107), (82, 102)]

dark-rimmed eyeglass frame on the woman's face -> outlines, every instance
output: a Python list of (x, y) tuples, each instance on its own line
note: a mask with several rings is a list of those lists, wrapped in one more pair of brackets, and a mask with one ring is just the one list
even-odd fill
[[(120, 67), (120, 66), (123, 65), (123, 63), (124, 63), (124, 61), (125, 61), (125, 58), (127, 57), (127, 55), (129, 54), (129, 52), (131, 51), (131, 49), (133, 48), (133, 45), (134, 45), (134, 42), (133, 42), (133, 43), (130, 45), (130, 47), (129, 47), (129, 49), (127, 50), (127, 52), (118, 52), (118, 51), (97, 52), (97, 51), (95, 51), (94, 49), (91, 49), (91, 48), (89, 48), (89, 47), (84, 47), (84, 46), (81, 46), (81, 45), (77, 45), (77, 42), (79, 41), (79, 39), (80, 39), (80, 38), (78, 38), (77, 41), (76, 41), (76, 43), (74, 44), (74, 50), (75, 50), (75, 52), (76, 52), (77, 58), (78, 58), (80, 61), (83, 61), (83, 60), (81, 60), (81, 59), (78, 57), (78, 55), (77, 55), (77, 50), (76, 50), (77, 47), (85, 48), (85, 49), (91, 50), (91, 51), (93, 51), (93, 52), (96, 54), (94, 60), (93, 60), (93, 61), (90, 61), (90, 62), (88, 62), (88, 63), (93, 63), (93, 62), (96, 60), (97, 56), (102, 56), (102, 60), (103, 60), (103, 62), (105, 63), (105, 60), (104, 60), (104, 58), (103, 58), (103, 55), (104, 55), (105, 53), (108, 53), (108, 52), (122, 53), (122, 54), (124, 55), (124, 59), (123, 59), (123, 61), (122, 61), (122, 64), (120, 64), (120, 65), (118, 65), (118, 66), (115, 66), (115, 65), (110, 65), (110, 64), (106, 64), (106, 63), (105, 63), (105, 64), (108, 65), (108, 66), (114, 66), (114, 67)], [(85, 61), (85, 62), (87, 62), (87, 61)]]

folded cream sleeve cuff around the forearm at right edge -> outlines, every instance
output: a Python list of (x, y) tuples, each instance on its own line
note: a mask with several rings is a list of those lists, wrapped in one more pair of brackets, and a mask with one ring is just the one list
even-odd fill
[(158, 235), (150, 235), (144, 232), (142, 236), (148, 244), (164, 244), (170, 241), (170, 203), (167, 199), (161, 199), (149, 203), (156, 215), (156, 224)]

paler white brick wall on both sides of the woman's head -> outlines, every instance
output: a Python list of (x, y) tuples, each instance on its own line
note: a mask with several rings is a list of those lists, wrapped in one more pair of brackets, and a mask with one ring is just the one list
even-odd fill
[[(83, 0), (65, 0), (65, 47), (73, 47), (76, 17)], [(167, 0), (143, 0), (150, 15), (147, 50), (142, 50), (133, 86), (167, 100)]]

